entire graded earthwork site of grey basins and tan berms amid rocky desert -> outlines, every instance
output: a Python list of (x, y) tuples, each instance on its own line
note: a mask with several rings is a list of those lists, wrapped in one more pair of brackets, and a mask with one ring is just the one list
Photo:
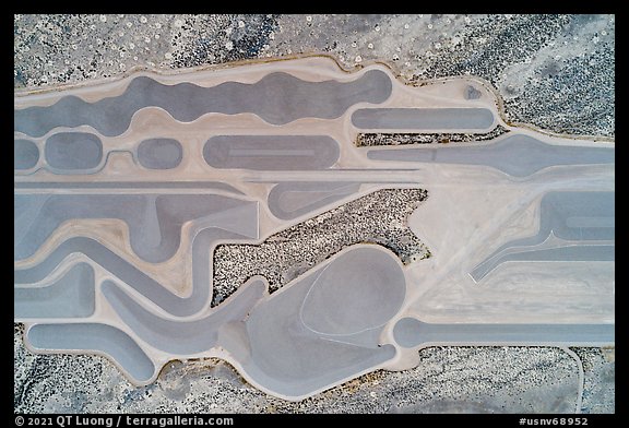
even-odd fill
[(613, 344), (614, 145), (497, 104), (321, 58), (16, 97), (14, 320), (137, 385), (218, 357), (292, 401), (431, 344)]

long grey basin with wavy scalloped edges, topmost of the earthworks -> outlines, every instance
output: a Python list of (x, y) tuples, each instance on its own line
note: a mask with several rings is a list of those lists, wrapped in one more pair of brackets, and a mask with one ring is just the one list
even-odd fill
[(58, 127), (88, 124), (104, 135), (120, 135), (133, 114), (155, 106), (182, 122), (209, 112), (252, 112), (273, 124), (299, 118), (334, 119), (356, 103), (382, 103), (391, 94), (390, 78), (371, 70), (352, 82), (307, 82), (277, 72), (251, 84), (226, 82), (213, 87), (191, 83), (165, 85), (147, 76), (133, 79), (122, 95), (87, 103), (66, 96), (49, 107), (14, 111), (14, 131), (41, 136)]

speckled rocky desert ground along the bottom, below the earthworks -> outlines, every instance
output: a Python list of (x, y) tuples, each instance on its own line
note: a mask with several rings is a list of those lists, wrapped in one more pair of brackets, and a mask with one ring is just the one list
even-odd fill
[(155, 383), (134, 388), (103, 357), (31, 354), (21, 331), (15, 412), (614, 413), (613, 349), (426, 348), (415, 369), (376, 371), (292, 403), (256, 390), (218, 359), (173, 361)]

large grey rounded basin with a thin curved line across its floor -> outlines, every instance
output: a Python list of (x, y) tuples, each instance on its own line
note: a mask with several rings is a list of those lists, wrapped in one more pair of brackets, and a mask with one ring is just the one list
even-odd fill
[[(400, 262), (358, 247), (260, 302), (246, 322), (245, 371), (288, 397), (311, 394), (391, 359), (378, 334), (404, 299)], [(385, 299), (385, 301), (383, 301)]]

